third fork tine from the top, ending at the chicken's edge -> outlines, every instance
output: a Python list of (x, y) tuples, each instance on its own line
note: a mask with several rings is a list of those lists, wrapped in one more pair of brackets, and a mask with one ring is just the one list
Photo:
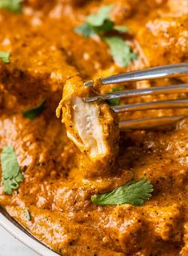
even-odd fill
[(122, 113), (125, 111), (141, 111), (141, 110), (159, 110), (159, 109), (178, 109), (188, 108), (188, 99), (180, 100), (166, 100), (159, 102), (144, 102), (128, 104), (123, 106), (112, 106), (112, 110), (116, 113)]

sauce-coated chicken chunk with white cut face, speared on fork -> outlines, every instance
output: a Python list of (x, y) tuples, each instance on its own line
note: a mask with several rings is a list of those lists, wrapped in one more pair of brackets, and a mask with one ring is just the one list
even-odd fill
[(84, 86), (81, 78), (71, 78), (65, 84), (63, 98), (57, 107), (57, 117), (62, 110), (67, 135), (81, 153), (80, 166), (85, 176), (91, 177), (108, 173), (119, 150), (117, 115), (103, 100), (83, 100), (97, 94), (94, 87)]

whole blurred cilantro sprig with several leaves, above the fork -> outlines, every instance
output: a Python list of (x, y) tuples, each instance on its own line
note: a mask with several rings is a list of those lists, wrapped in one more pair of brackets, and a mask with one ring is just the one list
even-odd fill
[(132, 52), (131, 47), (121, 38), (121, 36), (107, 36), (109, 31), (118, 31), (127, 33), (127, 26), (116, 26), (110, 19), (111, 6), (103, 6), (96, 14), (88, 15), (86, 22), (76, 27), (75, 32), (82, 34), (85, 38), (91, 37), (93, 34), (98, 34), (109, 46), (112, 58), (116, 65), (126, 67), (135, 58), (136, 54)]

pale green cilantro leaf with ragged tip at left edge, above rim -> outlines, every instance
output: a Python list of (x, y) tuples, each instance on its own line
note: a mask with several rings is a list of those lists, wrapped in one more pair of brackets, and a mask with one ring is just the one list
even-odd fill
[(18, 165), (17, 156), (10, 146), (4, 146), (1, 154), (2, 163), (2, 188), (6, 194), (17, 190), (23, 181), (23, 175)]

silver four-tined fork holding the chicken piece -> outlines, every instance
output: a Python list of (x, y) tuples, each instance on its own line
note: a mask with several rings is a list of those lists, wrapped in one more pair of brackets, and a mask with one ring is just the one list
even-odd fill
[[(153, 80), (159, 78), (178, 78), (188, 76), (188, 63), (171, 64), (166, 66), (156, 66), (145, 70), (136, 70), (123, 74), (115, 74), (107, 78), (100, 78), (102, 85), (108, 85), (121, 82), (135, 82), (141, 80)], [(94, 86), (94, 81), (84, 82), (84, 86)], [(91, 98), (83, 98), (84, 102), (95, 102), (97, 100), (110, 100), (113, 98), (130, 98), (136, 96), (156, 95), (156, 94), (179, 94), (187, 93), (188, 84), (177, 84), (170, 86), (158, 86), (146, 89), (121, 90), (109, 94), (99, 94)], [(159, 109), (178, 109), (188, 108), (188, 99), (165, 100), (157, 102), (143, 102), (135, 104), (127, 104), (123, 106), (111, 106), (116, 113), (135, 110), (159, 110)], [(125, 120), (119, 122), (119, 127), (127, 130), (139, 130), (154, 128), (173, 124), (179, 120), (186, 118), (188, 115), (163, 116), (155, 118), (139, 118), (133, 120)]]

